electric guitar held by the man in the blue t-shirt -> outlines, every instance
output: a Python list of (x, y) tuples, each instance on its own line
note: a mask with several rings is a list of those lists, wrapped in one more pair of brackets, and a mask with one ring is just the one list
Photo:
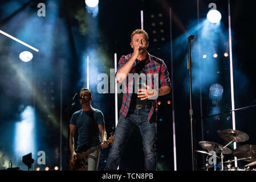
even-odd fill
[[(113, 138), (114, 137), (109, 137), (107, 142), (113, 143)], [(88, 168), (88, 155), (91, 154), (92, 152), (99, 150), (101, 147), (101, 144), (92, 147), (88, 150), (84, 150), (84, 147), (82, 147), (79, 151), (76, 152), (76, 161), (75, 164), (72, 163), (72, 154), (70, 154), (70, 171), (78, 171), (80, 168), (84, 168), (87, 170)]]

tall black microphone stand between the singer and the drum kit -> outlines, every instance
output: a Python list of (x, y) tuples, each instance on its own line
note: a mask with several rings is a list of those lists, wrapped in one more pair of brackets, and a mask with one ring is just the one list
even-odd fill
[(194, 39), (194, 35), (188, 37), (188, 69), (189, 69), (189, 101), (190, 101), (190, 139), (191, 139), (191, 152), (192, 152), (192, 169), (196, 169), (196, 160), (194, 157), (194, 131), (193, 131), (193, 109), (192, 109), (192, 76), (191, 76), (191, 47), (190, 41)]

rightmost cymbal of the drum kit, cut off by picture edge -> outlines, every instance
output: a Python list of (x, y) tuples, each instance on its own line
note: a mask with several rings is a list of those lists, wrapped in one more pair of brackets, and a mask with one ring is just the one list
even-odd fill
[(251, 157), (251, 159), (246, 159), (245, 161), (253, 162), (256, 160), (256, 145), (245, 144), (243, 146), (239, 146), (233, 151), (233, 154), (237, 158)]

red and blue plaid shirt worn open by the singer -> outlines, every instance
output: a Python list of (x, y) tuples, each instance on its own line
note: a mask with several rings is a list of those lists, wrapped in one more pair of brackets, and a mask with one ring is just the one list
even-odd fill
[[(145, 71), (146, 73), (152, 73), (152, 75), (154, 73), (159, 73), (159, 81), (160, 81), (160, 86), (159, 88), (161, 88), (162, 86), (171, 86), (170, 83), (170, 78), (169, 78), (169, 73), (168, 70), (166, 68), (166, 65), (164, 63), (163, 60), (159, 59), (158, 57), (152, 56), (147, 52), (148, 55), (148, 60), (145, 64)], [(119, 69), (121, 67), (123, 67), (123, 65), (125, 65), (127, 63), (127, 61), (131, 58), (132, 53), (130, 53), (127, 56), (121, 56), (121, 59), (119, 60), (118, 63), (118, 67), (117, 67), (117, 71), (119, 71)], [(136, 73), (135, 72), (135, 67), (136, 67), (136, 61), (133, 63), (132, 69), (129, 73)], [(126, 81), (126, 84), (125, 84)], [(127, 90), (127, 93), (123, 92), (123, 103), (120, 109), (120, 114), (121, 117), (125, 118), (128, 110), (129, 110), (129, 106), (131, 104), (131, 98), (132, 98), (132, 90), (133, 90), (133, 84), (135, 82), (135, 79), (133, 78), (133, 80), (129, 80), (128, 77), (126, 80), (124, 80), (123, 83), (123, 89)], [(152, 76), (152, 88), (154, 88), (154, 78)], [(156, 104), (156, 100), (152, 100), (152, 107), (151, 107), (151, 111), (149, 113), (148, 116), (148, 121), (151, 119), (151, 116), (153, 115), (153, 112), (157, 111), (157, 104)]]

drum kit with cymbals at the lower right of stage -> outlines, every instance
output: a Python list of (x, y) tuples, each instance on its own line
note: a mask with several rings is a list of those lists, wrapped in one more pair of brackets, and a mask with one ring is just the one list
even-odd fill
[[(204, 148), (206, 151), (196, 151), (200, 154), (208, 154), (210, 158), (214, 159), (214, 162), (210, 161), (208, 156), (206, 157), (206, 164), (203, 169), (206, 171), (209, 171), (210, 168), (214, 168), (214, 171), (217, 171), (217, 169), (220, 169), (221, 171), (256, 171), (256, 169), (251, 169), (251, 166), (256, 165), (256, 145), (252, 144), (246, 144), (243, 146), (237, 147), (235, 150), (231, 150), (227, 146), (229, 146), (231, 143), (234, 142), (246, 142), (249, 140), (249, 135), (246, 133), (243, 133), (242, 131), (238, 130), (222, 130), (219, 133), (219, 136), (226, 140), (227, 143), (225, 146), (222, 144), (218, 144), (215, 142), (208, 142), (208, 141), (201, 141), (199, 142), (199, 145)], [(218, 156), (217, 154), (220, 154)], [(233, 154), (237, 159), (235, 160), (227, 160), (224, 162), (224, 155)], [(217, 165), (217, 159), (220, 159), (221, 162), (218, 167)], [(246, 162), (250, 162), (249, 164), (246, 164), (243, 168), (235, 168), (232, 167), (232, 162), (243, 160)], [(225, 165), (225, 166), (224, 166)]]

